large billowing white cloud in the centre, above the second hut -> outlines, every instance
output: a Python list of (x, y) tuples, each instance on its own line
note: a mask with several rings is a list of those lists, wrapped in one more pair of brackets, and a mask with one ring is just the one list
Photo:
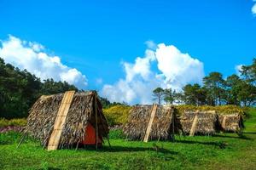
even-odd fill
[[(154, 64), (157, 64), (158, 71), (151, 69)], [(163, 43), (157, 45), (155, 50), (147, 49), (145, 57), (137, 57), (134, 63), (124, 62), (122, 65), (125, 79), (102, 88), (101, 94), (110, 101), (150, 104), (154, 88), (180, 90), (186, 83), (201, 83), (204, 77), (201, 61)]]

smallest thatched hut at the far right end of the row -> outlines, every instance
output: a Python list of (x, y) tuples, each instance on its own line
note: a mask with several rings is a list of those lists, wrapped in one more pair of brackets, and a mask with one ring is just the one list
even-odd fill
[(240, 133), (244, 128), (241, 114), (219, 114), (218, 125), (221, 131)]

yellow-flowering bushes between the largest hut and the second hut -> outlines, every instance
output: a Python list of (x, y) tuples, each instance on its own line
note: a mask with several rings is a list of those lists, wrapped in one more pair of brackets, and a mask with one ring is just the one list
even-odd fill
[(108, 120), (110, 126), (120, 125), (127, 121), (131, 106), (114, 105), (108, 109), (103, 109), (103, 113)]

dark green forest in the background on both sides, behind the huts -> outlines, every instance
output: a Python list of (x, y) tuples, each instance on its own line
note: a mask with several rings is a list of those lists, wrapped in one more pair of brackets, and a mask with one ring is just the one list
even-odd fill
[[(241, 67), (241, 77), (231, 75), (226, 79), (219, 72), (211, 72), (203, 78), (203, 85), (187, 84), (182, 92), (172, 88), (155, 88), (153, 100), (167, 104), (186, 105), (240, 105), (252, 106), (256, 102), (256, 59), (252, 65)], [(55, 82), (53, 79), (40, 80), (32, 73), (20, 71), (6, 64), (0, 58), (0, 118), (20, 118), (28, 115), (29, 108), (41, 95), (59, 94), (67, 90), (79, 90), (67, 82)], [(151, 92), (149, 92), (151, 93)], [(125, 102), (111, 103), (100, 97), (103, 108), (113, 105), (127, 105)]]

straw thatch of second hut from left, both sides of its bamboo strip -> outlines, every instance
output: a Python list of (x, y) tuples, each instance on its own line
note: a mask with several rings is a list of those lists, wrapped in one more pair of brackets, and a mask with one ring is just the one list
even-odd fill
[[(123, 128), (127, 139), (143, 140), (152, 109), (152, 105), (135, 105), (132, 107), (128, 121)], [(172, 133), (177, 133), (179, 128), (180, 124), (174, 107), (158, 105), (148, 139), (172, 139)]]

